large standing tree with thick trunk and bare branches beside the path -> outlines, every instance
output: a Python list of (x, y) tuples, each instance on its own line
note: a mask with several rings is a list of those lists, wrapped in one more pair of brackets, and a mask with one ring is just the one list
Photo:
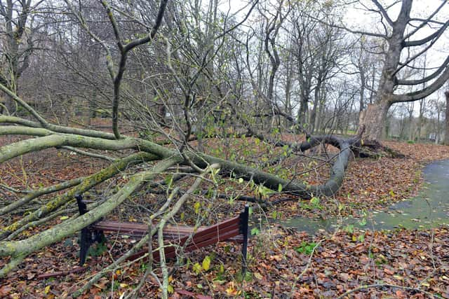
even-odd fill
[[(449, 26), (449, 22), (441, 23), (441, 27), (436, 29), (436, 32), (429, 34), (429, 36), (424, 37), (420, 40), (411, 40), (413, 34), (417, 32), (420, 27), (408, 28), (410, 23), (410, 11), (412, 9), (413, 0), (403, 0), (401, 1), (401, 11), (398, 14), (396, 20), (391, 20), (385, 8), (378, 1), (373, 1), (377, 9), (380, 10), (382, 17), (384, 18), (384, 26), (389, 26), (391, 29), (391, 34), (386, 30), (385, 34), (369, 34), (377, 37), (382, 37), (388, 43), (387, 53), (384, 55), (384, 65), (382, 67), (382, 73), (380, 76), (379, 85), (377, 87), (377, 92), (375, 95), (374, 104), (368, 106), (364, 116), (361, 118), (361, 125), (366, 127), (366, 138), (367, 139), (380, 139), (384, 136), (385, 131), (385, 119), (387, 116), (387, 111), (391, 104), (399, 102), (413, 102), (419, 99), (427, 97), (432, 92), (441, 88), (445, 81), (449, 78), (449, 57), (441, 64), (433, 74), (420, 78), (417, 80), (404, 80), (398, 78), (400, 76), (399, 71), (403, 69), (406, 65), (410, 64), (415, 60), (415, 58), (420, 55), (425, 55), (426, 51), (430, 46), (422, 51), (416, 57), (410, 59), (406, 58), (406, 61), (401, 61), (401, 53), (404, 49), (411, 47), (422, 46), (424, 44), (432, 41), (434, 43), (435, 39), (438, 39), (443, 35), (445, 29)], [(443, 8), (444, 3), (438, 6), (435, 13), (437, 13), (441, 8)], [(429, 19), (423, 20), (423, 26), (433, 17), (431, 15)], [(406, 31), (406, 29), (410, 29)], [(407, 32), (407, 33), (406, 33)], [(415, 36), (413, 36), (415, 37)], [(434, 80), (436, 79), (436, 80)], [(395, 95), (394, 91), (398, 85), (415, 85), (419, 86), (423, 83), (434, 80), (426, 88), (417, 90), (414, 92), (404, 93), (401, 95)]]

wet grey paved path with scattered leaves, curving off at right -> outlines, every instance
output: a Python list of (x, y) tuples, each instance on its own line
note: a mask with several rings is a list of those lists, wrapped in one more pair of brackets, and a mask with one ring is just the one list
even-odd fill
[(369, 211), (366, 218), (310, 219), (292, 218), (281, 222), (288, 228), (314, 233), (333, 231), (338, 225), (354, 225), (359, 229), (392, 230), (449, 226), (449, 160), (433, 162), (423, 169), (424, 187), (412, 199), (392, 204), (382, 211)]

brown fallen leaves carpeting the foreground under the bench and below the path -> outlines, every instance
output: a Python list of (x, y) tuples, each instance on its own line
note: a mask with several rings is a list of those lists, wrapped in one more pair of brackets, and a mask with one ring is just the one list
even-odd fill
[[(361, 234), (363, 241), (359, 238)], [(114, 242), (109, 243), (112, 249)], [(346, 298), (428, 298), (419, 290), (448, 298), (448, 244), (447, 228), (351, 234), (340, 231), (314, 237), (272, 228), (251, 239), (248, 274), (243, 281), (240, 246), (220, 243), (189, 253), (187, 263), (170, 277), (170, 291), (173, 298), (189, 298), (186, 294), (212, 298), (243, 298), (243, 295), (246, 298), (337, 298), (362, 287)], [(0, 295), (2, 298), (65, 298), (112, 262), (105, 252), (89, 258), (90, 270), (85, 272), (44, 280), (36, 278), (43, 272), (74, 267), (76, 248), (58, 244), (46, 253), (29, 256), (20, 269), (0, 282)], [(117, 251), (112, 249), (110, 253)], [(201, 267), (206, 256), (210, 258), (207, 270)], [(173, 265), (171, 260), (169, 267)], [(143, 272), (145, 263), (142, 262), (121, 267), (107, 274), (81, 298), (106, 298), (111, 293), (118, 298), (138, 284)], [(159, 270), (156, 273), (160, 274)], [(377, 287), (363, 288), (374, 284)], [(182, 291), (176, 294), (175, 290)], [(159, 295), (156, 281), (148, 278), (140, 298)]]

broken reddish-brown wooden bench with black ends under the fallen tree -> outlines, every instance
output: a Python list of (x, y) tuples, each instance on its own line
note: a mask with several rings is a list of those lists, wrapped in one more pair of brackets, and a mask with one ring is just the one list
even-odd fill
[[(83, 202), (81, 195), (76, 195), (79, 214), (87, 212), (86, 203)], [(246, 272), (246, 255), (248, 248), (248, 216), (249, 207), (234, 218), (227, 219), (220, 223), (210, 226), (201, 226), (194, 232), (194, 228), (187, 225), (166, 225), (163, 228), (163, 237), (169, 244), (184, 246), (184, 251), (195, 251), (204, 246), (216, 244), (217, 242), (239, 242), (242, 243), (241, 254), (243, 260), (242, 272)], [(86, 256), (89, 247), (95, 242), (105, 240), (104, 232), (114, 232), (121, 235), (133, 237), (143, 237), (148, 233), (148, 225), (145, 223), (119, 222), (119, 221), (97, 221), (81, 230), (81, 249), (79, 251), (79, 263), (82, 266), (86, 262)], [(188, 243), (187, 243), (188, 242)], [(177, 247), (166, 246), (164, 253), (166, 258), (176, 256)], [(134, 260), (145, 253), (147, 250), (139, 251), (130, 256), (129, 260)], [(154, 251), (153, 259), (159, 260), (159, 251)]]

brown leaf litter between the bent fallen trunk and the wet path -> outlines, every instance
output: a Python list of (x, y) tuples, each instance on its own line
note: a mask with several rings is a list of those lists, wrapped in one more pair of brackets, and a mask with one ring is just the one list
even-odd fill
[(412, 197), (422, 183), (422, 167), (434, 160), (449, 159), (449, 146), (394, 141), (384, 144), (406, 158), (382, 157), (350, 162), (337, 200), (373, 209)]

